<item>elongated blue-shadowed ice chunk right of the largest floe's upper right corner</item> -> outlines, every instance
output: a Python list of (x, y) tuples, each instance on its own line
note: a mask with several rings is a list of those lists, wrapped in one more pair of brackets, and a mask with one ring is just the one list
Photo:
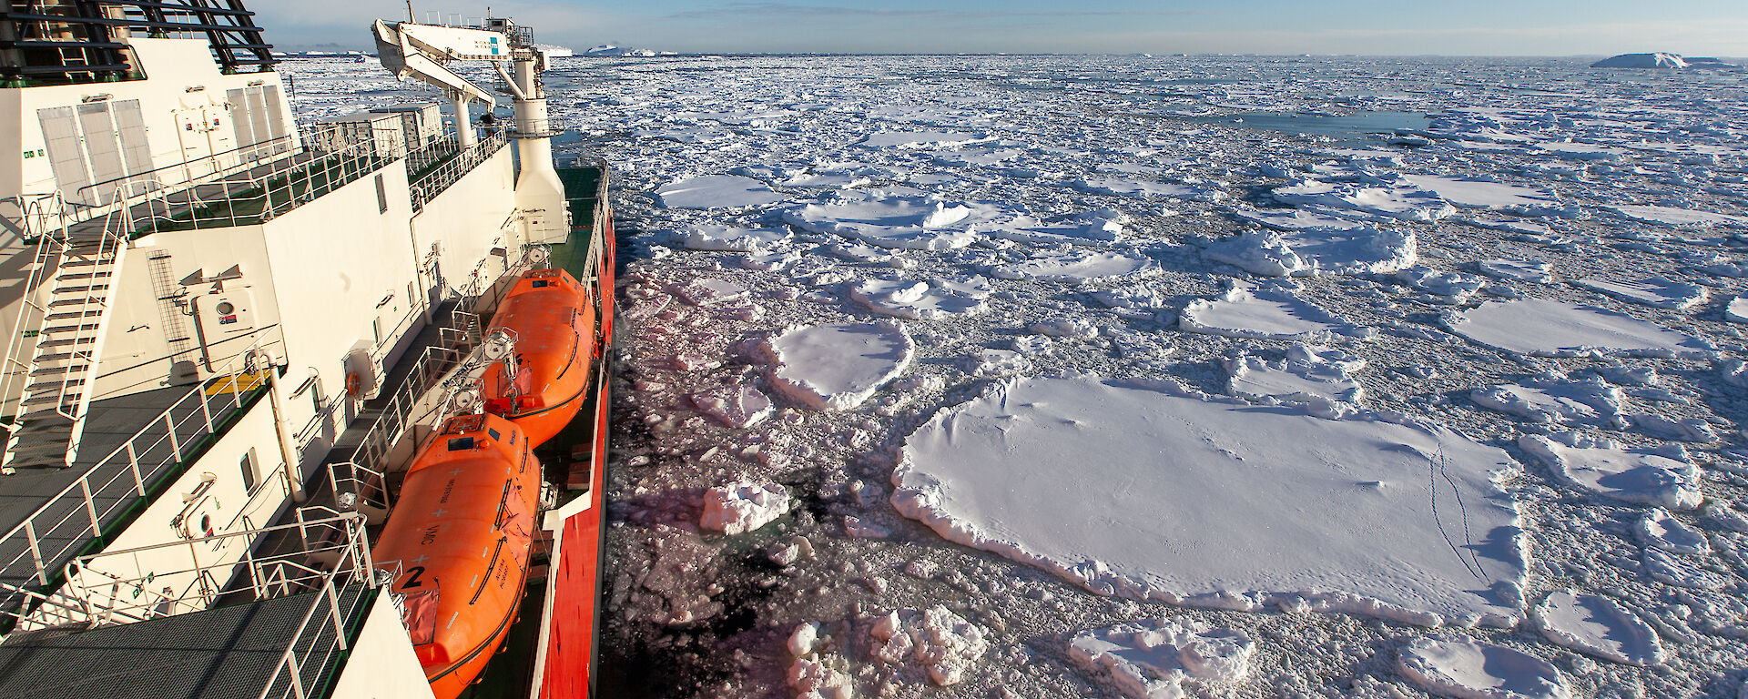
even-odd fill
[[(1699, 467), (1680, 456), (1680, 449), (1654, 453), (1620, 449), (1608, 440), (1587, 440), (1573, 433), (1524, 435), (1517, 446), (1542, 460), (1573, 486), (1615, 500), (1692, 510), (1699, 507)], [(1675, 456), (1666, 456), (1675, 454)]]

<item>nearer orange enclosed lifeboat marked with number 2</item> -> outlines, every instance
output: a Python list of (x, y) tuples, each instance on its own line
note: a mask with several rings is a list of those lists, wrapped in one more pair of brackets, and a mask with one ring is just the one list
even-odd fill
[(371, 552), (400, 564), (393, 591), (437, 699), (479, 676), (521, 603), (540, 498), (530, 447), (503, 418), (451, 418), (413, 460)]

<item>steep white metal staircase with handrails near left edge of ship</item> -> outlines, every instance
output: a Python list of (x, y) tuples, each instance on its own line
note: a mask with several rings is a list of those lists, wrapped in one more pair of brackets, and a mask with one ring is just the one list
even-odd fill
[[(103, 351), (114, 280), (121, 274), (128, 239), (126, 213), (110, 213), (103, 225), (70, 225), (59, 197), (37, 201), (26, 225), (37, 224), (17, 332), (7, 346), (0, 397), (17, 400), (17, 418), (7, 423), (7, 472), (30, 467), (65, 468), (79, 456), (86, 411), (91, 405), (93, 369)], [(28, 356), (28, 360), (24, 360)]]

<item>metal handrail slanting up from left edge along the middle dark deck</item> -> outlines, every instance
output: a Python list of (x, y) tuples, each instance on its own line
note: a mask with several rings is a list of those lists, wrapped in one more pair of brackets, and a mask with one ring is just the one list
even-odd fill
[[(147, 423), (149, 426), (142, 428), (126, 442), (122, 442), (122, 446), (115, 447), (100, 461), (87, 467), (77, 479), (73, 479), (72, 484), (63, 488), (54, 496), (49, 496), (40, 507), (37, 507), (35, 512), (24, 517), (23, 523), (19, 523), (12, 529), (9, 529), (3, 536), (0, 536), (0, 542), (12, 542), (23, 538), (24, 543), (23, 552), (14, 556), (10, 561), (0, 563), (0, 570), (14, 571), (17, 570), (19, 564), (28, 564), (35, 568), (31, 577), (37, 578), (37, 584), (47, 585), (51, 577), (49, 563), (66, 554), (73, 547), (84, 543), (79, 538), (80, 529), (89, 531), (91, 536), (101, 536), (105, 533), (101, 524), (103, 517), (129, 505), (126, 498), (117, 498), (114, 503), (100, 507), (93, 498), (94, 493), (103, 493), (110, 486), (115, 486), (124, 479), (131, 479), (133, 484), (131, 488), (128, 488), (128, 491), (133, 491), (135, 495), (143, 498), (147, 496), (147, 482), (150, 479), (157, 477), (159, 472), (164, 470), (166, 467), (180, 463), (184, 460), (185, 440), (178, 435), (178, 428), (192, 421), (196, 425), (189, 430), (191, 433), (199, 432), (201, 428), (205, 428), (208, 435), (217, 433), (217, 423), (213, 421), (212, 404), (206, 400), (205, 395), (206, 388), (212, 383), (215, 383), (215, 379), (231, 381), (232, 407), (241, 407), (243, 391), (238, 384), (238, 377), (245, 374), (243, 369), (246, 369), (250, 355), (253, 355), (260, 348), (281, 341), (278, 337), (262, 336), (260, 330), (257, 330), (250, 337), (253, 339), (250, 348), (234, 356), (229, 363), (225, 363), (222, 372), (215, 372), (206, 381), (198, 383), (189, 393), (185, 393), (182, 398), (177, 398), (177, 402), (173, 402), (168, 409), (159, 412), (157, 418)], [(269, 367), (266, 370), (273, 369)], [(175, 414), (189, 400), (199, 402), (199, 411), (191, 411), (189, 416), (178, 423)], [(147, 437), (147, 433), (156, 430), (159, 425), (163, 425), (164, 433), (145, 444), (143, 439)], [(156, 465), (140, 461), (142, 453), (150, 453), (152, 449), (163, 447), (166, 442), (170, 446), (170, 458)], [(126, 460), (128, 468), (119, 470), (114, 477), (110, 477), (103, 484), (93, 482), (93, 474), (96, 474), (100, 468), (117, 460)], [(47, 519), (45, 514), (49, 512), (49, 509), (63, 503), (65, 500), (79, 500), (80, 507), (68, 509), (68, 514), (54, 523), (44, 523), (44, 519)], [(61, 531), (61, 528), (72, 523), (77, 514), (84, 514), (82, 519), (87, 519), (87, 523), (79, 524), (72, 531)], [(47, 529), (40, 528), (38, 524), (47, 524)], [(56, 533), (66, 535), (70, 538), (68, 543), (65, 543), (59, 550), (45, 552), (42, 547), (45, 535), (56, 535)], [(0, 610), (9, 610), (14, 601), (16, 601), (14, 594), (0, 596)]]

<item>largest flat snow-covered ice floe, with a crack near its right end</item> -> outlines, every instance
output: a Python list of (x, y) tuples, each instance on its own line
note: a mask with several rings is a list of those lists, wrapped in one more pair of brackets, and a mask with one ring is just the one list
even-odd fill
[(1101, 594), (1510, 626), (1516, 468), (1444, 428), (1026, 377), (911, 433), (891, 502)]

